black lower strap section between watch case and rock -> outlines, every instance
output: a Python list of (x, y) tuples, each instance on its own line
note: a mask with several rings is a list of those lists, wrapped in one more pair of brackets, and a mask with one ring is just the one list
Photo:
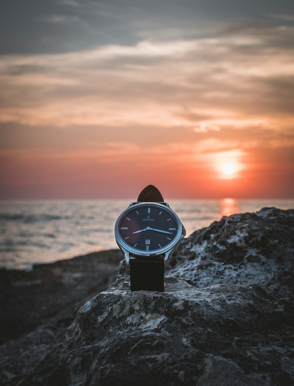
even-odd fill
[(164, 291), (164, 259), (130, 259), (131, 291)]

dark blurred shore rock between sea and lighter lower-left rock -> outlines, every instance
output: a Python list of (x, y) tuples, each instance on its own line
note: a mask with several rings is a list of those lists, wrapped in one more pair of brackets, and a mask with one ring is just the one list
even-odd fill
[(122, 259), (118, 249), (36, 264), (32, 271), (0, 269), (0, 344), (39, 325), (66, 328), (79, 308), (107, 289)]

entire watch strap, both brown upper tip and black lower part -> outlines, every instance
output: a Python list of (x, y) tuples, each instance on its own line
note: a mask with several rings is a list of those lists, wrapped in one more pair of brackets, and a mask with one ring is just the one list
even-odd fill
[[(164, 203), (160, 191), (154, 185), (144, 188), (138, 202)], [(135, 204), (135, 203), (134, 203)], [(165, 203), (164, 203), (165, 204)], [(130, 259), (131, 291), (164, 291), (164, 259)]]

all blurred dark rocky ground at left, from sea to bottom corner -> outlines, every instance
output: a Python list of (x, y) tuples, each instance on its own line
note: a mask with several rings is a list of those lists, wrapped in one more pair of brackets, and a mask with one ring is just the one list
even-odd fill
[(115, 280), (122, 257), (114, 249), (28, 272), (0, 270), (0, 384), (32, 371), (63, 341), (79, 308)]

